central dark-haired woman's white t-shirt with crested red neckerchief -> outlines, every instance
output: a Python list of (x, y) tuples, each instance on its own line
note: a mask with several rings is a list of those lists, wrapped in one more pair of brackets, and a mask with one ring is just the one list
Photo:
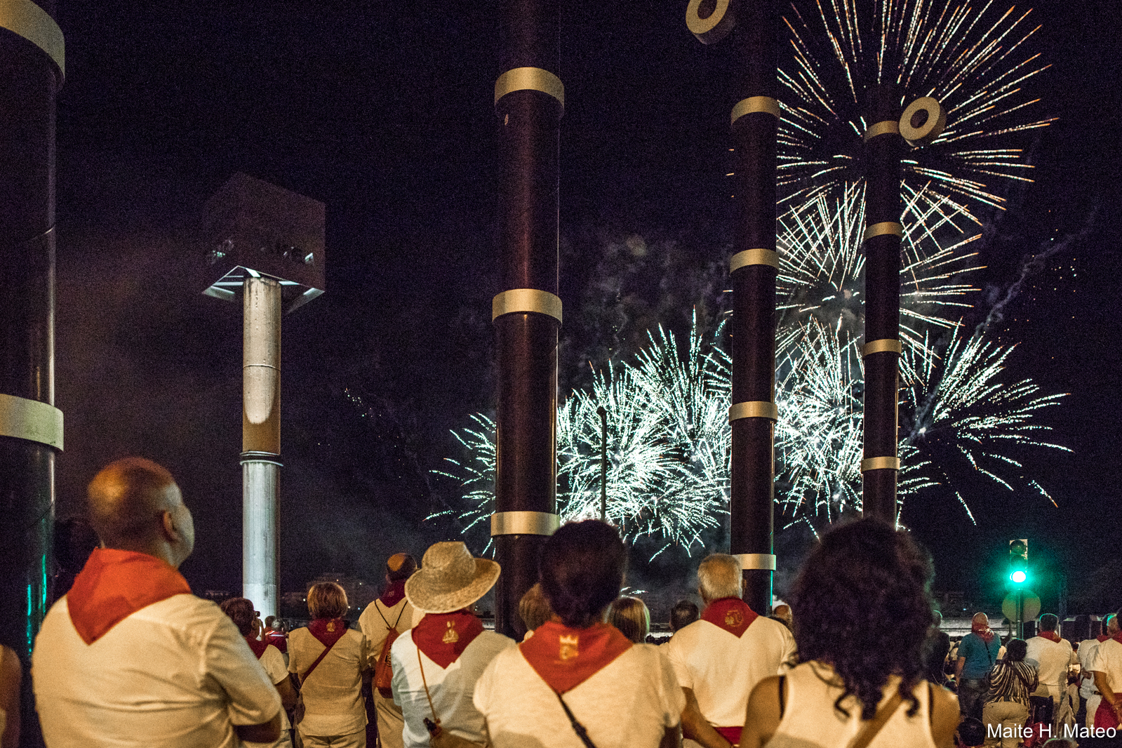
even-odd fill
[(597, 748), (657, 748), (686, 707), (660, 647), (632, 644), (607, 624), (549, 621), (500, 652), (476, 683), (490, 745), (583, 748), (558, 694)]

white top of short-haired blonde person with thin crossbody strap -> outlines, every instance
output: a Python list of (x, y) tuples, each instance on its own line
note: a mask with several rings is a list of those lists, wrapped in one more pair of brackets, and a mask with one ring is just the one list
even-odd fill
[[(288, 635), (288, 672), (304, 673), (323, 652), (306, 628)], [(366, 727), (362, 671), (370, 666), (366, 639), (352, 629), (335, 641), (331, 652), (301, 684), (304, 698), (304, 735), (351, 735)]]

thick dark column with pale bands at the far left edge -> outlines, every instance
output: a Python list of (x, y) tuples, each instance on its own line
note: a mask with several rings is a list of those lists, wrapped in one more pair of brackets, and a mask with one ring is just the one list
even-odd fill
[(35, 745), (29, 653), (46, 615), (54, 524), (54, 2), (0, 13), (0, 643), (24, 662), (22, 745)]

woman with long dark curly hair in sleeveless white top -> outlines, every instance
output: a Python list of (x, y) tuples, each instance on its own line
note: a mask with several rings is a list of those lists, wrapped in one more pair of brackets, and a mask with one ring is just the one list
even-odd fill
[(884, 521), (826, 533), (791, 594), (797, 663), (752, 691), (741, 748), (954, 746), (958, 702), (923, 680), (932, 576), (927, 552)]

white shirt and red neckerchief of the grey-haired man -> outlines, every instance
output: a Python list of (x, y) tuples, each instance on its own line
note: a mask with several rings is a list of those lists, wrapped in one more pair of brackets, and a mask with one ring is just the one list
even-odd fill
[(701, 715), (734, 745), (752, 689), (783, 672), (793, 654), (794, 637), (788, 628), (758, 616), (739, 598), (710, 602), (701, 618), (666, 644), (681, 687), (692, 689)]

